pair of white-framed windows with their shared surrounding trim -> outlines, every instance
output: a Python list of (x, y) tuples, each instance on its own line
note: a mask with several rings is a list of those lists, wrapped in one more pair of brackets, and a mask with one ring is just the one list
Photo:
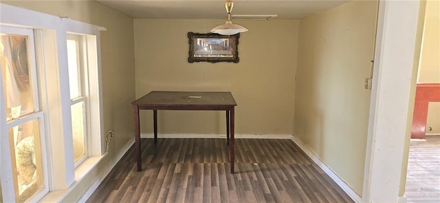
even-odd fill
[(0, 202), (63, 202), (104, 154), (100, 27), (0, 10)]

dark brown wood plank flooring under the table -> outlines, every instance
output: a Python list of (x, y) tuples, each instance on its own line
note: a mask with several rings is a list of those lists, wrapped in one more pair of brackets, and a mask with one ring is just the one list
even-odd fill
[(142, 139), (87, 202), (353, 202), (292, 140)]

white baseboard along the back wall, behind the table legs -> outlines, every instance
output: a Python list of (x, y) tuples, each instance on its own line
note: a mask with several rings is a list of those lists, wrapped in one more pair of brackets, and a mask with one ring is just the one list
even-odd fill
[[(140, 138), (154, 138), (153, 133), (141, 133)], [(157, 138), (226, 138), (226, 134), (176, 134), (159, 133)], [(292, 135), (287, 134), (235, 134), (236, 139), (292, 139)]]

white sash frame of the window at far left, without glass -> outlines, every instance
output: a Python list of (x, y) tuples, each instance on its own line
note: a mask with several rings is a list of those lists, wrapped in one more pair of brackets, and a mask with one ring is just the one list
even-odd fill
[[(46, 136), (45, 136), (45, 112), (40, 106), (40, 100), (41, 97), (44, 95), (41, 94), (41, 91), (39, 89), (45, 87), (45, 85), (42, 82), (42, 77), (37, 70), (39, 67), (36, 67), (36, 50), (35, 50), (35, 43), (34, 43), (34, 32), (31, 29), (27, 28), (14, 28), (10, 26), (0, 25), (1, 33), (3, 34), (19, 34), (22, 36), (28, 36), (28, 64), (29, 72), (30, 72), (30, 82), (31, 82), (31, 94), (33, 99), (33, 108), (34, 111), (30, 114), (26, 114), (24, 116), (20, 116), (17, 119), (14, 120), (6, 120), (6, 111), (5, 111), (5, 104), (4, 104), (4, 92), (3, 92), (3, 83), (0, 82), (0, 124), (1, 124), (1, 138), (0, 140), (3, 140), (1, 142), (1, 145), (3, 145), (1, 148), (5, 151), (1, 151), (1, 168), (0, 168), (0, 175), (4, 175), (4, 177), (1, 179), (1, 189), (3, 193), (3, 201), (4, 202), (14, 202), (16, 200), (15, 197), (15, 191), (14, 191), (14, 180), (12, 180), (13, 173), (12, 173), (12, 157), (10, 154), (10, 145), (9, 145), (9, 136), (8, 136), (8, 129), (23, 125), (25, 122), (32, 121), (32, 120), (38, 120), (39, 122), (39, 145), (41, 146), (41, 173), (42, 173), (42, 182), (43, 182), (43, 189), (38, 191), (35, 195), (33, 195), (29, 201), (33, 200), (39, 200), (41, 199), (47, 192), (49, 192), (49, 183), (48, 183), (48, 169), (47, 169), (47, 157), (45, 157), (45, 154), (47, 154), (46, 151)], [(1, 72), (0, 72), (1, 76)], [(1, 77), (0, 77), (1, 78)]]

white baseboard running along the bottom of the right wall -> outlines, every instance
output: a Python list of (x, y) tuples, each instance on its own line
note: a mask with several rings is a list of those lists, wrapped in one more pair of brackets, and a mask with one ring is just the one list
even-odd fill
[(296, 145), (298, 145), (298, 147), (300, 147), (300, 149), (302, 149), (307, 154), (307, 156), (311, 158), (311, 160), (313, 160), (316, 164), (318, 164), (318, 167), (320, 167), (322, 171), (324, 171), (325, 173), (327, 173), (327, 175), (330, 176), (331, 180), (336, 182), (336, 184), (338, 184), (342, 188), (342, 190), (344, 190), (345, 193), (347, 193), (347, 195), (349, 195), (351, 199), (353, 199), (353, 201), (362, 202), (362, 197), (360, 197), (358, 193), (353, 191), (353, 189), (351, 189), (351, 187), (347, 183), (345, 183), (344, 180), (342, 180), (330, 167), (328, 167), (327, 164), (322, 162), (322, 160), (320, 160), (320, 158), (318, 158), (318, 156), (316, 156), (316, 154), (313, 153), (309, 149), (309, 147), (307, 147), (307, 145), (304, 144), (303, 141), (301, 141), (299, 138), (297, 138), (294, 135), (291, 136), (291, 138), (296, 143)]

